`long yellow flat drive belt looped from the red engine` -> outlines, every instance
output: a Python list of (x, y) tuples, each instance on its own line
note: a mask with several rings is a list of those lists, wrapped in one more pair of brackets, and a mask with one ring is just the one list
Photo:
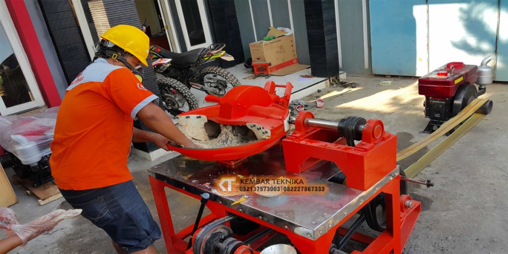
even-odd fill
[(437, 158), (437, 156), (439, 156), (442, 152), (444, 152), (457, 140), (459, 140), (464, 134), (466, 134), (469, 130), (471, 130), (471, 128), (473, 128), (474, 125), (480, 122), (480, 120), (482, 120), (486, 116), (486, 114), (475, 112), (477, 112), (477, 110), (480, 109), (487, 101), (488, 101), (487, 99), (478, 99), (478, 98), (474, 99), (456, 116), (454, 116), (447, 122), (443, 123), (439, 127), (439, 129), (437, 129), (435, 132), (433, 132), (426, 138), (416, 142), (415, 144), (412, 144), (409, 147), (398, 152), (397, 162), (418, 152), (419, 150), (426, 147), (430, 143), (434, 142), (439, 137), (447, 134), (449, 131), (456, 128), (457, 125), (463, 122), (462, 125), (460, 125), (460, 127), (456, 131), (454, 131), (450, 136), (448, 136), (436, 147), (432, 148), (429, 152), (423, 155), (417, 162), (407, 167), (404, 170), (405, 175), (411, 178), (420, 173), (420, 171), (422, 171), (432, 161), (434, 161), (435, 158)]

